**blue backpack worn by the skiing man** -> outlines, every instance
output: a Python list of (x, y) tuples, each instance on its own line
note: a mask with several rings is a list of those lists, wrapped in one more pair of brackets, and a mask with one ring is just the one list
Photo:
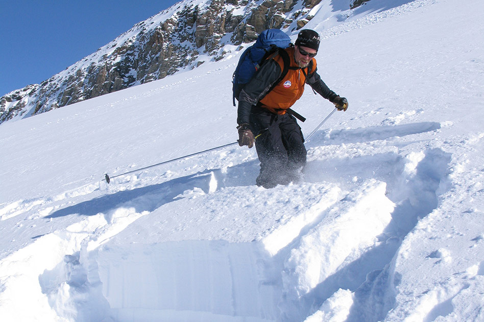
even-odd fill
[[(235, 99), (238, 100), (238, 96), (244, 85), (254, 77), (260, 66), (267, 61), (267, 58), (272, 54), (276, 55), (276, 53), (286, 54), (280, 49), (285, 49), (291, 45), (291, 38), (280, 29), (268, 29), (260, 33), (255, 44), (246, 49), (242, 56), (240, 56), (237, 67), (235, 68), (232, 80), (234, 106)], [(283, 71), (283, 74), (282, 78), (287, 74), (287, 70), (285, 70), (285, 73)]]

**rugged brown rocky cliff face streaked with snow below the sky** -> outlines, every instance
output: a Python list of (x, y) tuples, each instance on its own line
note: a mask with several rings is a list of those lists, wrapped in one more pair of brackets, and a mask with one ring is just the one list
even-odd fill
[[(358, 0), (359, 1), (359, 0)], [(219, 60), (226, 44), (268, 28), (292, 32), (321, 0), (185, 0), (136, 24), (41, 84), (0, 98), (0, 123), (21, 119)], [(356, 3), (356, 1), (354, 1)], [(353, 1), (348, 0), (354, 6)]]

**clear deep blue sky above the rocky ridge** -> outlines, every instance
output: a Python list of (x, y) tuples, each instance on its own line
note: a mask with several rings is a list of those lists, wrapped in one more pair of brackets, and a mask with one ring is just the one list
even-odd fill
[(0, 0), (0, 96), (39, 84), (181, 0)]

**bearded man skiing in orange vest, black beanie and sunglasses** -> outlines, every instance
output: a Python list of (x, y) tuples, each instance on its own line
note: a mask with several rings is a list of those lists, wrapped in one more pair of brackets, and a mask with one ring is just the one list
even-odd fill
[[(294, 47), (284, 51), (290, 66), (282, 81), (284, 59), (275, 55), (262, 64), (257, 74), (240, 91), (237, 109), (237, 130), (240, 146), (254, 145), (260, 161), (257, 186), (273, 188), (300, 179), (306, 164), (304, 137), (291, 110), (309, 84), (322, 97), (346, 111), (348, 101), (338, 96), (316, 72), (320, 37), (316, 31), (302, 30)], [(287, 68), (287, 66), (286, 66)]]

